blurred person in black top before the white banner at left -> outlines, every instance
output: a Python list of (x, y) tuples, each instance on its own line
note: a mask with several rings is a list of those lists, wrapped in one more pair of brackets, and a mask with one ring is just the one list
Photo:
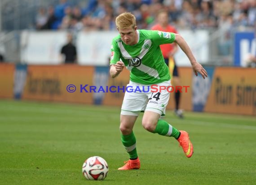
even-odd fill
[[(77, 53), (76, 47), (72, 43), (73, 36), (71, 33), (67, 34), (67, 44), (65, 44), (61, 49), (61, 58), (64, 63), (76, 63), (77, 62)], [(65, 57), (65, 60), (64, 60)]]

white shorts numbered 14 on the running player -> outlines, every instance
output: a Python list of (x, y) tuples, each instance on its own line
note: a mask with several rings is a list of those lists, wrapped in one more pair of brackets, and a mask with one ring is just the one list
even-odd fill
[(141, 85), (132, 81), (126, 86), (121, 115), (138, 116), (146, 110), (165, 115), (165, 108), (170, 98), (170, 92), (161, 90), (161, 87), (171, 86), (171, 81), (165, 81), (153, 86)]

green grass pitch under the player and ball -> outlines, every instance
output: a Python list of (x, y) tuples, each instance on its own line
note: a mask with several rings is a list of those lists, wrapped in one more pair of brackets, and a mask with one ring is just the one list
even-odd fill
[[(186, 130), (188, 159), (174, 138), (134, 132), (141, 169), (118, 171), (128, 159), (120, 141), (119, 107), (0, 100), (0, 185), (254, 185), (256, 117), (186, 112), (166, 120)], [(82, 164), (101, 156), (104, 181), (88, 181)]]

